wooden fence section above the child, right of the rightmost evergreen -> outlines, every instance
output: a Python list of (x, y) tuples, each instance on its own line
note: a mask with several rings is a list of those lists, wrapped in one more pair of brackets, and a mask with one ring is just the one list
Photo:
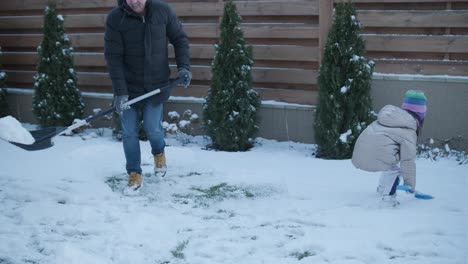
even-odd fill
[(468, 1), (354, 2), (376, 72), (468, 76)]

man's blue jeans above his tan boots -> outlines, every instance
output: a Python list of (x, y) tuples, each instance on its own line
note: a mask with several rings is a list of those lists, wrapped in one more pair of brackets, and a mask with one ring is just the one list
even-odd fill
[[(143, 109), (143, 128), (151, 145), (153, 155), (164, 152), (166, 143), (164, 142), (164, 131), (161, 125), (163, 115), (163, 104), (154, 104), (151, 100), (145, 100), (139, 104)], [(140, 140), (138, 138), (138, 126), (140, 118), (139, 108), (135, 105), (132, 108), (123, 111), (120, 116), (122, 124), (122, 141), (127, 160), (127, 173), (142, 173)]]

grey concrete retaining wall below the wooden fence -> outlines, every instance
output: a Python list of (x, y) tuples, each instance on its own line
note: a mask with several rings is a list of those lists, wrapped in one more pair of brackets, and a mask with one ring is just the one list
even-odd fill
[[(375, 111), (386, 104), (401, 105), (408, 89), (423, 90), (428, 97), (428, 113), (423, 128), (423, 138), (446, 140), (461, 137), (462, 142), (451, 145), (455, 149), (468, 150), (468, 78), (447, 76), (414, 76), (375, 74), (372, 97)], [(12, 115), (22, 122), (35, 123), (32, 115), (32, 90), (8, 89)], [(97, 108), (107, 109), (111, 94), (84, 93), (85, 115), (92, 115)], [(182, 114), (192, 110), (202, 117), (202, 99), (171, 97), (165, 105), (165, 119), (169, 111)], [(260, 108), (259, 137), (278, 141), (314, 143), (315, 106), (283, 104), (265, 101)], [(99, 120), (93, 126), (112, 126), (110, 120)], [(193, 134), (203, 134), (200, 125)]]

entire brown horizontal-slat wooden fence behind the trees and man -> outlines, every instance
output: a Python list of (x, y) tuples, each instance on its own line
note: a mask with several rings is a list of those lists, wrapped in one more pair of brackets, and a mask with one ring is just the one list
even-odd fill
[[(8, 87), (31, 88), (36, 47), (48, 0), (0, 1), (0, 46)], [(173, 95), (204, 97), (213, 44), (219, 37), (221, 0), (168, 0), (190, 38), (194, 80)], [(364, 24), (367, 56), (376, 71), (468, 75), (468, 0), (355, 0)], [(75, 49), (82, 91), (111, 92), (103, 56), (104, 25), (116, 0), (57, 0)], [(263, 100), (315, 104), (316, 77), (332, 17), (331, 0), (236, 1), (253, 46), (254, 87)], [(174, 63), (171, 51), (171, 63)], [(174, 67), (174, 66), (173, 66)]]

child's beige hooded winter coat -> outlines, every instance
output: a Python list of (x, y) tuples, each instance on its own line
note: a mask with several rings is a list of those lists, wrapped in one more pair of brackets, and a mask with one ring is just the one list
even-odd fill
[(377, 120), (359, 135), (352, 162), (365, 171), (385, 171), (400, 163), (404, 184), (416, 187), (417, 123), (393, 105), (380, 110)]

